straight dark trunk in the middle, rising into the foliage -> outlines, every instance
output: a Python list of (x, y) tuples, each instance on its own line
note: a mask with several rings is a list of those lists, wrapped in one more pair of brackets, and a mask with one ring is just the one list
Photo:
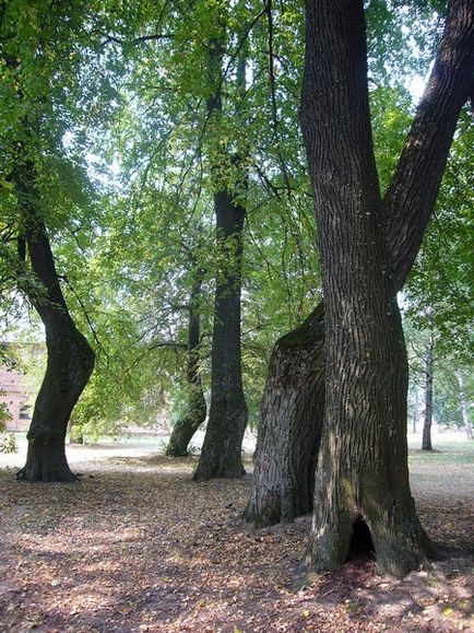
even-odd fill
[[(222, 112), (222, 63), (225, 28), (221, 38), (211, 42), (210, 77), (216, 87), (208, 103), (208, 113)], [(238, 60), (237, 91), (245, 92), (245, 51)], [(237, 478), (245, 473), (241, 445), (248, 421), (241, 376), (240, 318), (244, 225), (246, 210), (241, 200), (247, 192), (247, 173), (242, 156), (228, 161), (236, 173), (232, 190), (214, 166), (214, 211), (216, 219), (217, 274), (212, 338), (211, 406), (195, 480)]]

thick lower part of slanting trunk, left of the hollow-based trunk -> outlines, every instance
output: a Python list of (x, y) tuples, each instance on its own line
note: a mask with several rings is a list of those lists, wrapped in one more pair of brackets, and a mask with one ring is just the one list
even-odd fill
[(277, 340), (270, 361), (246, 517), (262, 527), (311, 512), (324, 410), (324, 329), (320, 304)]

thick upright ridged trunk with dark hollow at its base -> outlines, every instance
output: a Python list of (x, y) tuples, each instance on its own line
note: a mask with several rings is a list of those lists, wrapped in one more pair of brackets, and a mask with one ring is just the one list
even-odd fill
[(357, 520), (382, 573), (425, 560), (410, 491), (407, 364), (372, 151), (363, 2), (307, 2), (301, 103), (324, 294), (325, 407), (307, 562), (342, 564)]

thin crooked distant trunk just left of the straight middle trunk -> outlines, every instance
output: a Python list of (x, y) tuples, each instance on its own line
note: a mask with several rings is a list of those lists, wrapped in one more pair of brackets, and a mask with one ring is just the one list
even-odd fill
[(188, 328), (188, 394), (185, 414), (176, 422), (166, 447), (166, 455), (173, 457), (186, 457), (189, 455), (188, 446), (192, 436), (205, 420), (206, 405), (202, 390), (200, 375), (200, 298), (202, 286), (202, 272), (197, 272), (197, 279), (192, 285), (189, 306)]

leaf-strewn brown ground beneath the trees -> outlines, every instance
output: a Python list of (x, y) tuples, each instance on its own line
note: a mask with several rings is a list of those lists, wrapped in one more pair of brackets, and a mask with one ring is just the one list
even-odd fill
[(411, 454), (440, 559), (402, 581), (364, 558), (307, 574), (309, 517), (256, 531), (240, 518), (251, 476), (195, 483), (195, 461), (96, 452), (74, 465), (75, 484), (27, 484), (0, 470), (0, 631), (471, 630), (466, 443)]

